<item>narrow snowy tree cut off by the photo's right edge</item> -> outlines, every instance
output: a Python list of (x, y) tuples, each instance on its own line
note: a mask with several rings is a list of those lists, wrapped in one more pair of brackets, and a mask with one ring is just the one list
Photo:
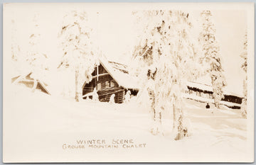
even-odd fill
[(247, 118), (247, 33), (245, 33), (245, 42), (243, 45), (243, 52), (240, 55), (243, 60), (241, 68), (245, 71), (246, 76), (243, 81), (243, 94), (245, 98), (242, 99), (241, 113), (242, 117)]

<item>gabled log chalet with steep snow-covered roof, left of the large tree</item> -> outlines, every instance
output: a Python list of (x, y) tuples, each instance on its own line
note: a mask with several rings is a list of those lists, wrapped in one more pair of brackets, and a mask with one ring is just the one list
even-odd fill
[(139, 85), (136, 77), (131, 76), (127, 66), (107, 59), (99, 59), (100, 64), (92, 72), (92, 81), (82, 86), (82, 97), (90, 97), (93, 89), (97, 89), (100, 101), (110, 101), (110, 96), (115, 94), (114, 102), (123, 103), (127, 91), (136, 96)]

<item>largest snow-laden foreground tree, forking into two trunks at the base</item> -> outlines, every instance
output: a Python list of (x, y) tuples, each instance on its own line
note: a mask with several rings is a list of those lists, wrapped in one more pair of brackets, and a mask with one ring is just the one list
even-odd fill
[(190, 35), (189, 14), (182, 11), (144, 11), (135, 16), (144, 26), (144, 33), (134, 56), (148, 66), (147, 84), (154, 114), (152, 134), (162, 132), (162, 111), (172, 108), (176, 140), (189, 135), (183, 115), (183, 97), (186, 81), (199, 71), (196, 42)]

